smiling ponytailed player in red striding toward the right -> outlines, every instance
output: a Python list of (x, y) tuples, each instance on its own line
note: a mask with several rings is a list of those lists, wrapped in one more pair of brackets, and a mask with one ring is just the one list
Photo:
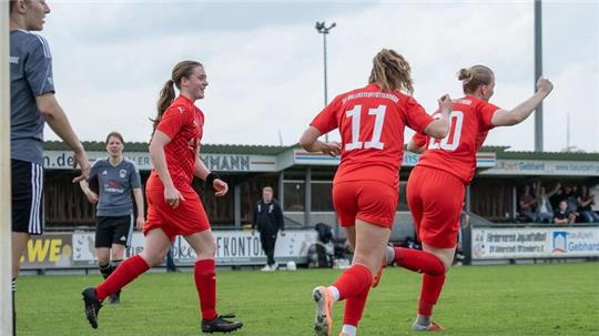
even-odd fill
[[(102, 301), (126, 284), (162, 263), (176, 235), (182, 235), (196, 253), (194, 278), (200, 296), (202, 332), (232, 332), (241, 322), (227, 320), (216, 314), (216, 243), (197, 193), (192, 189), (197, 176), (216, 191), (226, 194), (229, 186), (211, 173), (199, 156), (204, 126), (204, 114), (194, 102), (204, 98), (206, 73), (201, 63), (177, 63), (166, 81), (158, 102), (158, 116), (150, 143), (153, 170), (145, 186), (148, 221), (144, 225), (145, 245), (142, 253), (122, 262), (95, 288), (83, 291), (85, 316), (98, 328), (98, 313)], [(175, 99), (173, 84), (180, 90)]]

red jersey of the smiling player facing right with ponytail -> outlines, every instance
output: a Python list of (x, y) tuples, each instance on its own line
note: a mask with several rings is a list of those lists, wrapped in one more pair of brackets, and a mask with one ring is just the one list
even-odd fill
[[(202, 111), (193, 104), (192, 100), (180, 95), (164, 111), (156, 128), (158, 131), (171, 138), (171, 142), (164, 146), (164, 154), (169, 174), (177, 189), (189, 186), (192, 183), (203, 126), (204, 114)], [(150, 180), (153, 179), (155, 181), (152, 182), (160, 182), (155, 170), (152, 170), (150, 175)], [(149, 183), (149, 185), (153, 185), (153, 183)]]

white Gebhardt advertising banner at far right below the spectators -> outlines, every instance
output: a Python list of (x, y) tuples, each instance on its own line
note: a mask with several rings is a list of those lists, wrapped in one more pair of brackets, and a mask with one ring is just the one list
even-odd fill
[(473, 259), (599, 256), (599, 227), (473, 228)]

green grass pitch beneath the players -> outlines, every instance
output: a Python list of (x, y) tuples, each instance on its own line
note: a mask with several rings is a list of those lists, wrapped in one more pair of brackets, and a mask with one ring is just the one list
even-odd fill
[[(316, 285), (338, 269), (262, 273), (220, 271), (220, 313), (233, 312), (244, 327), (236, 335), (313, 335)], [(125, 287), (120, 305), (104, 305), (99, 328), (83, 314), (80, 292), (101, 277), (22, 276), (18, 281), (19, 335), (199, 335), (193, 274), (150, 273)], [(358, 335), (415, 335), (420, 275), (385, 269), (370, 292)], [(343, 303), (334, 306), (338, 335)], [(599, 263), (454, 267), (435, 319), (440, 335), (599, 335)], [(235, 335), (235, 334), (233, 334)]]

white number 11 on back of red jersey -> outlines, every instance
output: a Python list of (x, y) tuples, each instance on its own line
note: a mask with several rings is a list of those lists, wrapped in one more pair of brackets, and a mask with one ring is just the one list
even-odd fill
[(386, 110), (386, 105), (378, 105), (376, 109), (368, 109), (368, 115), (375, 116), (375, 124), (373, 130), (373, 139), (366, 142), (359, 141), (362, 105), (355, 105), (354, 109), (346, 111), (345, 115), (352, 119), (352, 142), (345, 144), (345, 151), (362, 149), (383, 150), (385, 144), (380, 142), (380, 134), (383, 133), (383, 123), (385, 121)]

